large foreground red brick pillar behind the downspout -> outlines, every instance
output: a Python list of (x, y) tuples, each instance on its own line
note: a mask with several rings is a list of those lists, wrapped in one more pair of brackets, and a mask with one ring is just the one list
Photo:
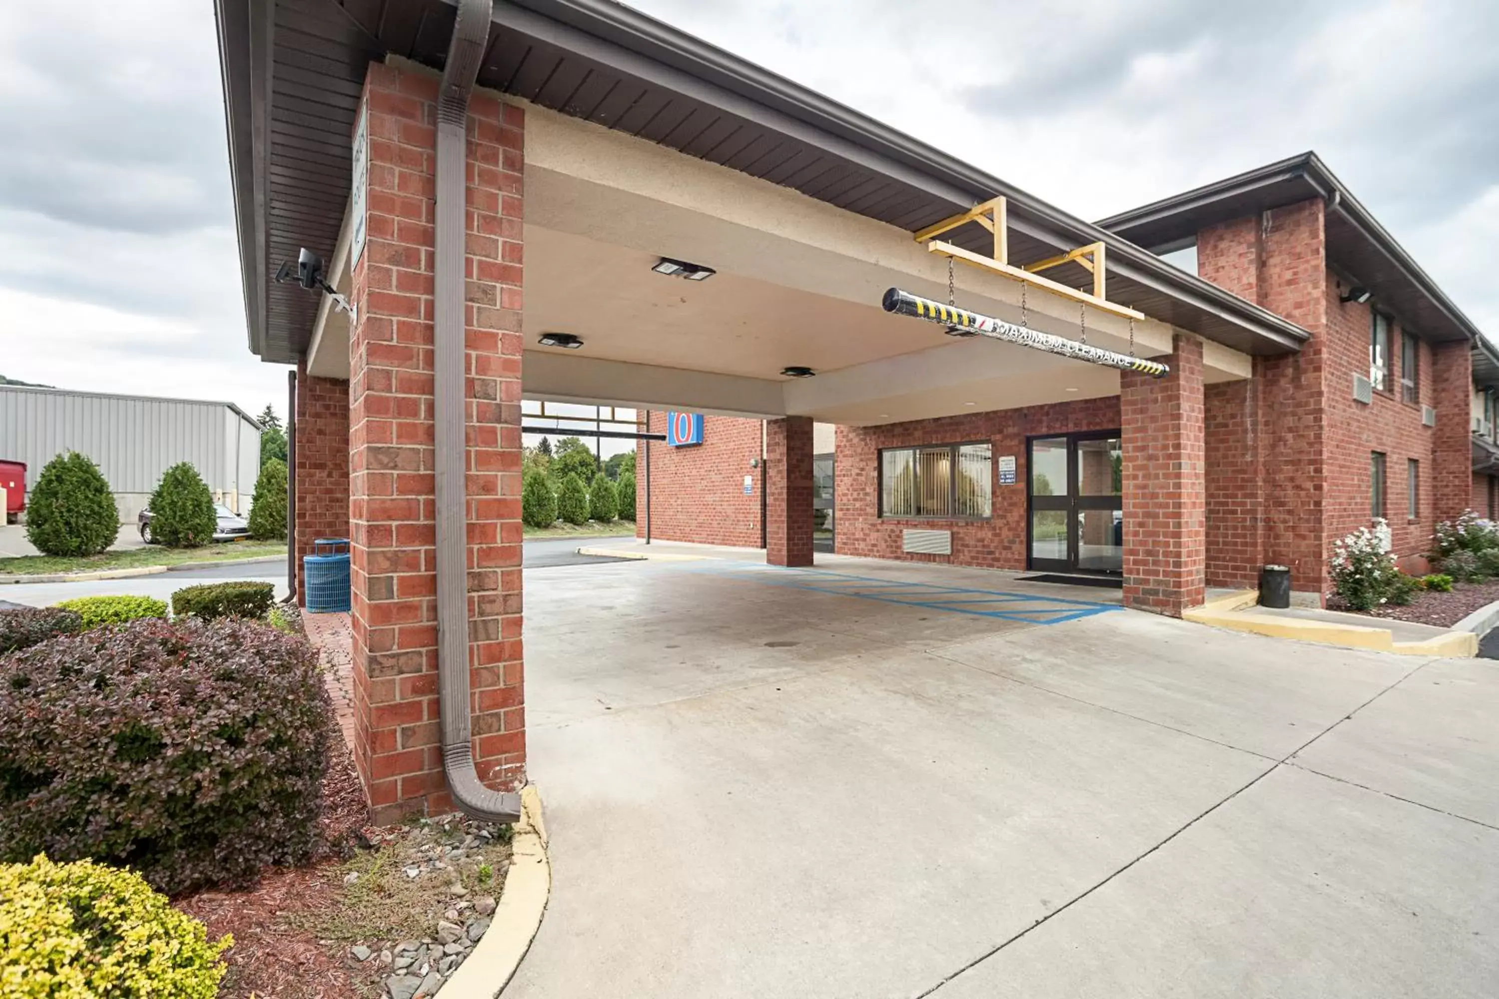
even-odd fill
[[(451, 810), (442, 777), (433, 482), (438, 78), (372, 64), (367, 237), (354, 270), (349, 445), (355, 762), (376, 821)], [(465, 309), (474, 759), (525, 780), (520, 644), (520, 108), (469, 106)]]

